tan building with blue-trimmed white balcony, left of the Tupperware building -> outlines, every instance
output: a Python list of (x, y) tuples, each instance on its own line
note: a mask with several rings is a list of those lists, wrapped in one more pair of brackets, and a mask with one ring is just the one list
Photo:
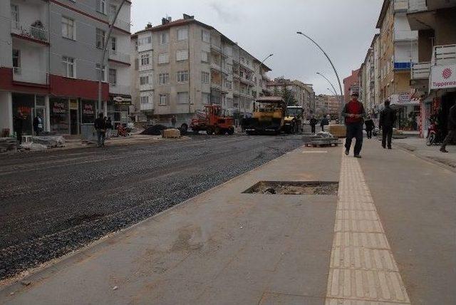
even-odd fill
[(384, 0), (380, 29), (380, 98), (398, 109), (398, 125), (412, 118), (418, 103), (410, 98), (410, 67), (418, 60), (418, 31), (407, 21), (408, 0)]

